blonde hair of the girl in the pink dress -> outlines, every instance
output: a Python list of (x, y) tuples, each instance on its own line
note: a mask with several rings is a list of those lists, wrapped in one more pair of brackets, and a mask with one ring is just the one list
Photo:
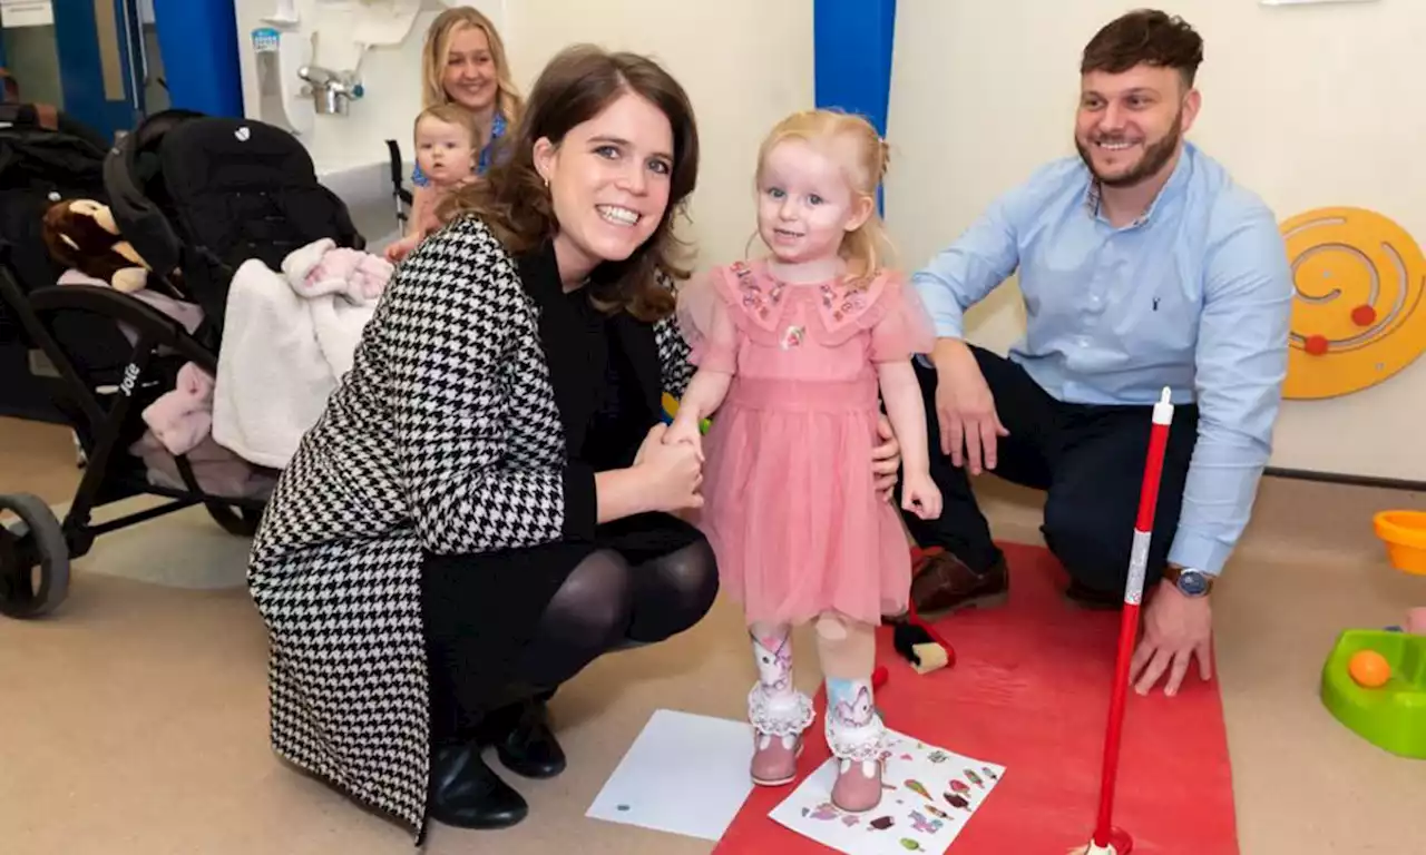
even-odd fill
[[(803, 110), (777, 123), (757, 150), (756, 191), (760, 192), (767, 155), (787, 140), (801, 140), (838, 161), (854, 197), (871, 204), (871, 215), (841, 239), (847, 279), (864, 288), (888, 264), (891, 241), (877, 214), (877, 188), (891, 165), (891, 150), (866, 118), (841, 110)], [(841, 145), (838, 145), (841, 144)]]

